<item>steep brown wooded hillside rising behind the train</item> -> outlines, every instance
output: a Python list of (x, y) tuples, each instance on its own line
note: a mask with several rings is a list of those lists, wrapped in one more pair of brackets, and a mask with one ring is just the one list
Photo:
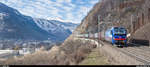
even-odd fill
[[(149, 23), (149, 6), (149, 0), (102, 0), (93, 7), (74, 33), (95, 33), (111, 26), (123, 26), (128, 33), (134, 35), (138, 29)], [(134, 37), (136, 36), (131, 38)]]

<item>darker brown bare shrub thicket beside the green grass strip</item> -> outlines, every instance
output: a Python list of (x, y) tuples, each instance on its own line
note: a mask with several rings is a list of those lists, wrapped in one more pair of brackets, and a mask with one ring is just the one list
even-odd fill
[(78, 64), (95, 47), (90, 41), (70, 40), (61, 47), (61, 50), (67, 55), (69, 61)]

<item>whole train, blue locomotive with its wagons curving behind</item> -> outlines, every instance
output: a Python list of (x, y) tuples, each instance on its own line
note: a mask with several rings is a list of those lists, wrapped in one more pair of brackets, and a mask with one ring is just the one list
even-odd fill
[(127, 30), (124, 27), (111, 27), (106, 31), (94, 34), (79, 34), (77, 37), (107, 41), (116, 46), (127, 46)]

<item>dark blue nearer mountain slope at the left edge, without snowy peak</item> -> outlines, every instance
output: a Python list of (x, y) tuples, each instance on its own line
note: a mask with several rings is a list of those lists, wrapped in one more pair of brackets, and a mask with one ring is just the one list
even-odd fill
[(0, 39), (45, 40), (49, 33), (40, 29), (29, 16), (0, 3)]

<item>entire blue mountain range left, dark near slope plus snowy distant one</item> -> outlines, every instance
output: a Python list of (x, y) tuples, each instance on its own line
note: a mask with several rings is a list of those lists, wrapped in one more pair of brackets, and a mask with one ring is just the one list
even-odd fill
[(71, 34), (67, 25), (25, 16), (0, 3), (0, 40), (63, 41)]

